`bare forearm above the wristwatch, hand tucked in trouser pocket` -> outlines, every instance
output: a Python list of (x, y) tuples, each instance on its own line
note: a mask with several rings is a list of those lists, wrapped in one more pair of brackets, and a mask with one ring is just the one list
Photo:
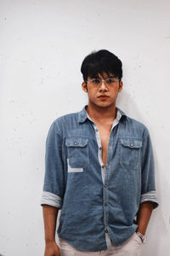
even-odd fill
[(153, 203), (151, 201), (145, 201), (142, 204), (140, 204), (139, 212), (137, 215), (137, 224), (138, 224), (137, 231), (139, 231), (143, 235), (145, 234), (147, 225), (150, 221), (152, 210), (153, 210)]

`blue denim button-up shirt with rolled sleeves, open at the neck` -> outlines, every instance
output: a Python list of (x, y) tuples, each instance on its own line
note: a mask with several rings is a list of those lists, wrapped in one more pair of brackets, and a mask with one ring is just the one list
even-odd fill
[(102, 160), (99, 128), (86, 111), (55, 119), (48, 131), (41, 205), (58, 207), (58, 236), (82, 251), (122, 245), (137, 230), (139, 206), (156, 197), (146, 126), (116, 107)]

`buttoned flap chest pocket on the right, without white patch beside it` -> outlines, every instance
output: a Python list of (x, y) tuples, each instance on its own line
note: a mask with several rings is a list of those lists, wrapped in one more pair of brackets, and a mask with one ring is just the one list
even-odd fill
[(121, 141), (120, 164), (127, 170), (135, 170), (140, 166), (142, 140), (123, 137)]

